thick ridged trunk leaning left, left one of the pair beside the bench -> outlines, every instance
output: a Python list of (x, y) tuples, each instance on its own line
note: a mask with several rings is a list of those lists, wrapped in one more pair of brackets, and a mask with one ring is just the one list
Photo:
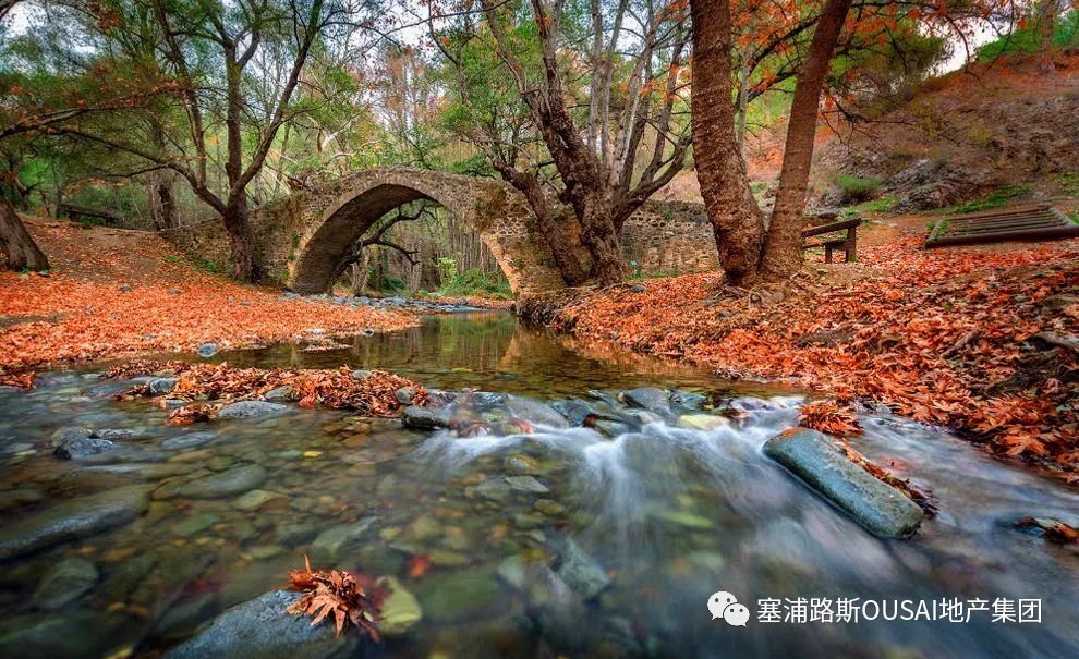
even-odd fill
[(701, 195), (735, 285), (756, 279), (764, 219), (735, 137), (729, 0), (692, 0), (693, 159)]

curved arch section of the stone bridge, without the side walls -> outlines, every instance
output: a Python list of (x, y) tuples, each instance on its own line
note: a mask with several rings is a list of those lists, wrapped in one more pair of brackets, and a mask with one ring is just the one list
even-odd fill
[(322, 293), (332, 284), (348, 249), (387, 212), (432, 200), (468, 222), (490, 248), (514, 294), (562, 288), (545, 244), (537, 240), (524, 198), (494, 180), (416, 169), (377, 168), (305, 193), (303, 233), (287, 284), (298, 293)]

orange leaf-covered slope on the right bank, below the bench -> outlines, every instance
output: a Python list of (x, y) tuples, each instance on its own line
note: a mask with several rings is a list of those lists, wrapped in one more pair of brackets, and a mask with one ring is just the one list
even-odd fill
[(888, 405), (1079, 480), (1079, 241), (926, 251), (907, 235), (776, 292), (715, 273), (530, 307), (581, 338)]

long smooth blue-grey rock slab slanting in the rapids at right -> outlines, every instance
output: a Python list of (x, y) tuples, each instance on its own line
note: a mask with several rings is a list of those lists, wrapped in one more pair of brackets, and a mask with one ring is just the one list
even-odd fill
[(905, 538), (924, 513), (896, 488), (852, 463), (828, 436), (797, 429), (773, 437), (764, 454), (795, 473), (865, 530), (882, 538)]

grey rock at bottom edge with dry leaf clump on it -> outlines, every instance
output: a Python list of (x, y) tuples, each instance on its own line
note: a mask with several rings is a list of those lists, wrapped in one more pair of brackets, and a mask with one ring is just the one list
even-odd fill
[(354, 632), (334, 638), (334, 623), (311, 626), (311, 618), (288, 608), (299, 593), (272, 590), (225, 611), (202, 633), (166, 652), (167, 659), (327, 659), (355, 654)]

